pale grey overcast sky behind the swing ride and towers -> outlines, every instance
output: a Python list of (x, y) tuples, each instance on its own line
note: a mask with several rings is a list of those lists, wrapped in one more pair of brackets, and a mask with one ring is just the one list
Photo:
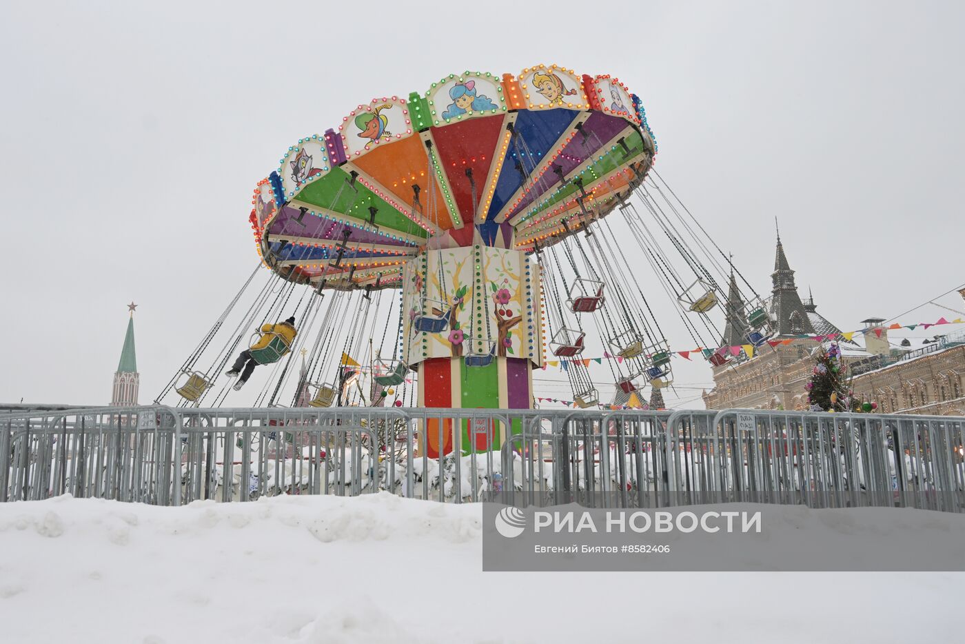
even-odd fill
[[(777, 216), (842, 328), (965, 282), (962, 3), (420, 4), (6, 3), (0, 402), (108, 403), (133, 299), (149, 403), (255, 266), (251, 193), (283, 151), (462, 70), (620, 77), (758, 292)], [(691, 400), (709, 368), (677, 382)]]

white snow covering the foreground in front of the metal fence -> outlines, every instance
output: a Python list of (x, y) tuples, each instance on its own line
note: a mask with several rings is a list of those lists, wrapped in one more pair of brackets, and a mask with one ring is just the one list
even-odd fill
[[(956, 515), (785, 510), (767, 547), (780, 547), (782, 530), (812, 524), (869, 538), (965, 535)], [(853, 514), (828, 520), (842, 512)], [(0, 504), (0, 641), (828, 644), (961, 635), (965, 574), (483, 574), (481, 518), (479, 505), (388, 493), (183, 508), (69, 496)]]

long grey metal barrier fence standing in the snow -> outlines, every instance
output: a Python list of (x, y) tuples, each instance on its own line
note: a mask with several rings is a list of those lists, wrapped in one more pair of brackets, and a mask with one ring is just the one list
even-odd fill
[(461, 503), (965, 511), (965, 418), (340, 407), (0, 415), (0, 501), (158, 505), (387, 490)]

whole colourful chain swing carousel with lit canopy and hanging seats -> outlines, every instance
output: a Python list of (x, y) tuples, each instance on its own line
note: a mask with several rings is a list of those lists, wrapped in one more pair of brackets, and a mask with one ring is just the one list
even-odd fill
[[(656, 152), (619, 79), (555, 65), (359, 105), (258, 182), (259, 264), (157, 400), (222, 406), (232, 357), (294, 315), (293, 340), (269, 332), (253, 353), (256, 406), (530, 408), (548, 359), (575, 406), (621, 406), (674, 379), (644, 266), (697, 346), (720, 337), (729, 283), (744, 304), (726, 314), (760, 346), (766, 308), (653, 170)], [(614, 358), (613, 400), (589, 337)]]

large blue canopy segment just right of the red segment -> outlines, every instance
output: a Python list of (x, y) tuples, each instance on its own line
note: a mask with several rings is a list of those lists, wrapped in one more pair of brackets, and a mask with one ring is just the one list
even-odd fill
[[(542, 157), (553, 150), (560, 137), (569, 129), (570, 124), (579, 115), (579, 110), (544, 109), (520, 110), (516, 117), (515, 135), (510, 143), (509, 154), (503, 162), (502, 171), (496, 182), (496, 190), (492, 197), (492, 204), (486, 212), (486, 220), (496, 218), (500, 210), (506, 206), (516, 191), (523, 185), (523, 177), (516, 169), (517, 159), (522, 160), (527, 174), (542, 160)], [(517, 139), (525, 144), (520, 145)], [(529, 154), (526, 154), (527, 149)]]

